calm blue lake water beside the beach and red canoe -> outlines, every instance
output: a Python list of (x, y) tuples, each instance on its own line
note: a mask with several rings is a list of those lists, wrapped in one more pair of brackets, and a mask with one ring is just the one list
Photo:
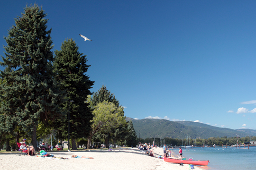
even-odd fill
[[(171, 150), (171, 149), (170, 149)], [(183, 157), (187, 160), (209, 160), (209, 170), (256, 170), (256, 146), (234, 148), (208, 147), (208, 148), (183, 148)], [(178, 155), (179, 149), (174, 149)]]

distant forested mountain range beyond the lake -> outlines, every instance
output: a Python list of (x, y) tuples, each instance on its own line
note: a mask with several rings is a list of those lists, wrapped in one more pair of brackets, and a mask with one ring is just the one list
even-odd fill
[(190, 136), (195, 138), (209, 137), (234, 137), (234, 136), (256, 136), (256, 130), (253, 129), (229, 129), (214, 127), (199, 122), (192, 121), (169, 121), (165, 119), (132, 119), (137, 137), (171, 137), (171, 138), (187, 138)]

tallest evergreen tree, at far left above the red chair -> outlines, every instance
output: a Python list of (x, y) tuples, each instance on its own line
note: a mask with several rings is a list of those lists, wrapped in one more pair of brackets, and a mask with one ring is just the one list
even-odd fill
[[(37, 124), (41, 120), (47, 124), (62, 117), (59, 104), (64, 102), (64, 92), (60, 91), (53, 79), (53, 48), (51, 29), (47, 29), (46, 13), (36, 4), (24, 8), (21, 17), (15, 18), (8, 37), (4, 37), (6, 58), (1, 66), (6, 67), (0, 76), (6, 82), (0, 86), (0, 95), (5, 104), (1, 107), (0, 123), (5, 131), (13, 131), (16, 126), (32, 135), (32, 145), (37, 148)], [(2, 127), (2, 126), (1, 126)]]

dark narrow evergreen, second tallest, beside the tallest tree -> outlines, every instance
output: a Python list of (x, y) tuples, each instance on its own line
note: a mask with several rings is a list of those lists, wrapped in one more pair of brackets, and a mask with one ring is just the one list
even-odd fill
[[(65, 40), (61, 50), (55, 50), (55, 72), (56, 80), (61, 82), (61, 90), (66, 90), (67, 100), (74, 101), (70, 104), (70, 136), (72, 139), (72, 149), (77, 149), (76, 138), (87, 137), (91, 129), (92, 113), (86, 103), (87, 95), (91, 95), (90, 89), (94, 81), (89, 80), (87, 72), (90, 65), (87, 59), (78, 51), (78, 46), (73, 39)], [(65, 102), (61, 107), (68, 111), (69, 102)], [(63, 135), (68, 136), (68, 121), (61, 125)]]

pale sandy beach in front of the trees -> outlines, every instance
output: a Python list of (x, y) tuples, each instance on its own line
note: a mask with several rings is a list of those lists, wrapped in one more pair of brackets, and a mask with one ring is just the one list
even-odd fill
[[(163, 153), (162, 148), (154, 148), (155, 157), (140, 152), (137, 148), (119, 149), (113, 151), (72, 151), (49, 152), (56, 157), (69, 158), (68, 160), (40, 158), (36, 156), (18, 156), (17, 153), (0, 153), (1, 170), (188, 170), (188, 165), (168, 163), (158, 156)], [(71, 158), (71, 155), (90, 156), (94, 159)], [(198, 167), (195, 167), (198, 169)]]

